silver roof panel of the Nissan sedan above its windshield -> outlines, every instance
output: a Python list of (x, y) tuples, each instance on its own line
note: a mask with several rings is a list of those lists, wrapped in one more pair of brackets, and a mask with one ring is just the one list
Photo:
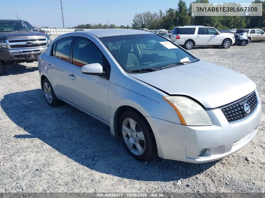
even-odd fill
[(152, 34), (148, 31), (135, 30), (135, 29), (92, 29), (84, 30), (82, 32), (90, 33), (96, 37), (107, 37), (107, 36), (120, 36), (120, 35), (130, 35), (130, 34)]

